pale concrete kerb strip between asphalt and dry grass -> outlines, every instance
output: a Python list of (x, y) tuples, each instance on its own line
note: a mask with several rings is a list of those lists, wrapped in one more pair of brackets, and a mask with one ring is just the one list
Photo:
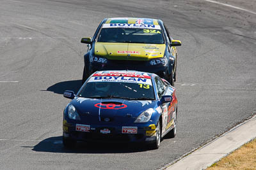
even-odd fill
[(206, 169), (254, 138), (256, 115), (164, 169)]

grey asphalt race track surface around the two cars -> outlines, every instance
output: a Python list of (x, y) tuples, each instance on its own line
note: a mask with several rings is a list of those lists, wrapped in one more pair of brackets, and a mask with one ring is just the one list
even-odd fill
[[(256, 112), (255, 1), (0, 1), (0, 169), (159, 169)], [(182, 41), (177, 137), (143, 146), (61, 144), (84, 36), (106, 17), (161, 18)]]

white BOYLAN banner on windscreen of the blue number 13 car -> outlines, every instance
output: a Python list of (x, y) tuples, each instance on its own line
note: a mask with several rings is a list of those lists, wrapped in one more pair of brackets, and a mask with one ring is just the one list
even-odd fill
[(92, 76), (88, 82), (122, 82), (122, 83), (140, 83), (152, 86), (152, 81), (148, 78), (125, 77), (125, 76)]

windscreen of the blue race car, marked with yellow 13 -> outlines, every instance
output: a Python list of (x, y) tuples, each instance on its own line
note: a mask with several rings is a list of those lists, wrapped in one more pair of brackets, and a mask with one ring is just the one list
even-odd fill
[(78, 97), (154, 100), (151, 79), (125, 76), (92, 76)]

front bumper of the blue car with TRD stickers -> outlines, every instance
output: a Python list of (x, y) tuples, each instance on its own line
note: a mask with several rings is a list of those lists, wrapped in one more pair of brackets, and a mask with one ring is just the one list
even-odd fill
[[(87, 125), (88, 126), (88, 125)], [(77, 131), (77, 124), (68, 124), (63, 121), (63, 136), (76, 141), (109, 141), (109, 142), (147, 142), (156, 139), (156, 125), (148, 126), (115, 126), (115, 125), (89, 125), (88, 131)], [(136, 132), (125, 132), (124, 127), (136, 127)], [(80, 129), (79, 129), (80, 130)]]

